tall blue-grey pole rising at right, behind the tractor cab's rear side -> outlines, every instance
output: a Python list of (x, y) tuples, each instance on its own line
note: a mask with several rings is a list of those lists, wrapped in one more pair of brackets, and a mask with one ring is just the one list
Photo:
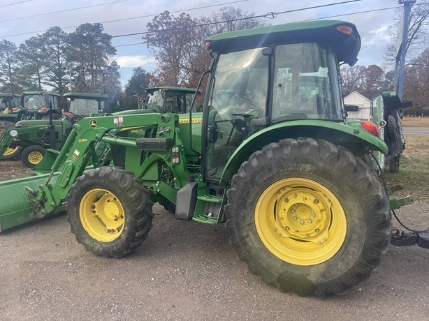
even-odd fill
[(396, 40), (396, 64), (395, 64), (395, 89), (400, 100), (402, 100), (402, 87), (405, 73), (405, 54), (407, 53), (408, 25), (411, 7), (416, 0), (399, 0), (399, 4), (404, 5), (402, 17), (398, 26), (398, 36)]

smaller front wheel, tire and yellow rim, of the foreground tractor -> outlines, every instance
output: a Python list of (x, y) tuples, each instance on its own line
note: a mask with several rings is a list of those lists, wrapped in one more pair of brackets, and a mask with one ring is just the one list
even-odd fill
[(147, 239), (152, 204), (142, 182), (120, 167), (99, 167), (78, 177), (66, 207), (71, 232), (88, 251), (122, 257)]

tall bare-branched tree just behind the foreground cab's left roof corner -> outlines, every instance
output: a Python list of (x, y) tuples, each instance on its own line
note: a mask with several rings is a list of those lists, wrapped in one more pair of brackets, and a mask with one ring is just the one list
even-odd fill
[(204, 40), (212, 34), (262, 26), (254, 13), (224, 7), (209, 17), (195, 19), (182, 13), (179, 17), (168, 11), (157, 15), (147, 24), (143, 36), (150, 52), (157, 59), (154, 73), (157, 84), (196, 87), (200, 75), (207, 70), (210, 57)]

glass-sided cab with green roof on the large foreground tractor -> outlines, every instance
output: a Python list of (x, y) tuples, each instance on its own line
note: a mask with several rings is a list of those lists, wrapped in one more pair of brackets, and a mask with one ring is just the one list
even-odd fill
[[(203, 131), (206, 179), (221, 179), (251, 136), (252, 149), (258, 149), (282, 137), (314, 136), (314, 121), (344, 124), (338, 62), (354, 64), (361, 43), (351, 24), (324, 24), (307, 22), (314, 31), (305, 33), (287, 24), (206, 40), (213, 57)], [(341, 43), (352, 45), (343, 50)]]

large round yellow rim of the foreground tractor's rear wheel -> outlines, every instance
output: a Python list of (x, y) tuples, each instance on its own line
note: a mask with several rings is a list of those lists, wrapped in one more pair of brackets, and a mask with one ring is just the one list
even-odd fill
[(254, 219), (268, 251), (296, 265), (326, 262), (340, 250), (347, 232), (337, 197), (316, 181), (298, 177), (282, 179), (263, 191)]

